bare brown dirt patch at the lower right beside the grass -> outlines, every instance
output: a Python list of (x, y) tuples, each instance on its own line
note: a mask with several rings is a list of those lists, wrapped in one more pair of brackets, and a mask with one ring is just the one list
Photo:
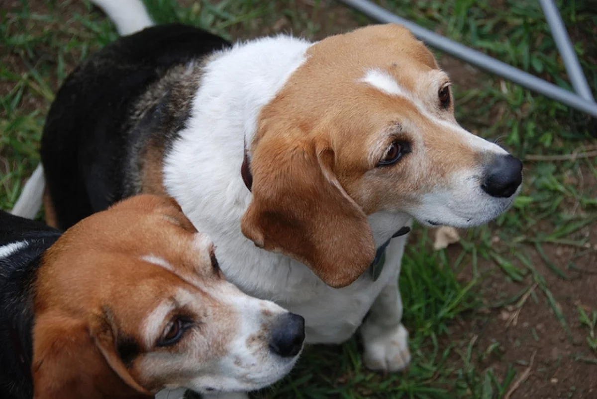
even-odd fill
[[(531, 274), (522, 282), (514, 283), (494, 262), (481, 259), (479, 273), (488, 274), (481, 284), (481, 295), (487, 308), (458, 320), (451, 328), (450, 336), (445, 338), (446, 344), (460, 342), (463, 350), (473, 341), (478, 356), (474, 359), (476, 366), (481, 370), (493, 369), (500, 380), (506, 376), (507, 367), (513, 365), (518, 371), (516, 381), (534, 357), (530, 374), (513, 392), (513, 399), (597, 397), (597, 353), (587, 344), (589, 330), (581, 325), (577, 310), (582, 307), (590, 313), (590, 309), (597, 309), (597, 225), (580, 234), (591, 237), (590, 248), (543, 246), (547, 258), (568, 276), (568, 280), (550, 270), (534, 246), (524, 248), (530, 255), (531, 264), (544, 277), (545, 286), (567, 322), (569, 335), (546, 293), (534, 284)], [(460, 248), (452, 246), (448, 252), (450, 259), (456, 259)], [(575, 268), (566, 268), (572, 259)], [(524, 270), (520, 262), (515, 265)], [(470, 280), (472, 271), (467, 268), (460, 277)], [(511, 304), (492, 308), (493, 304), (514, 298), (525, 287), (533, 290), (526, 300), (522, 295)], [(497, 349), (491, 351), (496, 344), (499, 345)]]

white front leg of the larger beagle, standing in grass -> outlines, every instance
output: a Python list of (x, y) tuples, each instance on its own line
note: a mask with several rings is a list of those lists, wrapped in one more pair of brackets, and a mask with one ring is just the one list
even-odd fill
[(361, 327), (365, 366), (371, 370), (404, 370), (411, 360), (408, 331), (401, 323), (402, 299), (398, 279), (387, 284), (371, 307)]

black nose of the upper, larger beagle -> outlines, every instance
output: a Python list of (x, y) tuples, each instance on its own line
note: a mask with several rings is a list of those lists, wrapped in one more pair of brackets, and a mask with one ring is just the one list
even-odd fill
[(487, 166), (481, 188), (492, 197), (510, 197), (522, 183), (522, 162), (512, 155), (498, 155)]

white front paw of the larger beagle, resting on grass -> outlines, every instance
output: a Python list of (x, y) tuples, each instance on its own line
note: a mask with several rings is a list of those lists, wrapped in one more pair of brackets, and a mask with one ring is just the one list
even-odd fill
[(383, 332), (377, 331), (376, 335), (365, 330), (363, 346), (363, 361), (370, 370), (397, 372), (406, 369), (410, 364), (408, 331), (402, 324)]

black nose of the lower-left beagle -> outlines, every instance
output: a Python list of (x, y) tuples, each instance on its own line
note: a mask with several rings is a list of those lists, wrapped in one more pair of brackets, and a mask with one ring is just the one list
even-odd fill
[(269, 349), (282, 357), (298, 355), (304, 342), (304, 318), (287, 313), (276, 320), (269, 339)]

